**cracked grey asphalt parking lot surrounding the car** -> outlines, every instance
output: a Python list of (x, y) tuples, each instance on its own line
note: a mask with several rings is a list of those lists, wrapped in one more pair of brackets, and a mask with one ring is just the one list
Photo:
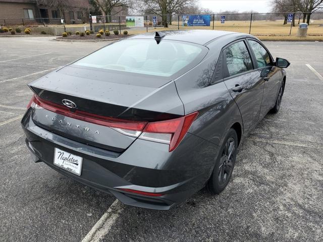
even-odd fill
[(0, 38), (0, 241), (321, 241), (322, 42), (264, 42), (291, 62), (279, 113), (239, 147), (222, 194), (203, 189), (154, 211), (119, 204), (30, 159), (20, 127), (26, 84), (107, 44), (51, 38)]

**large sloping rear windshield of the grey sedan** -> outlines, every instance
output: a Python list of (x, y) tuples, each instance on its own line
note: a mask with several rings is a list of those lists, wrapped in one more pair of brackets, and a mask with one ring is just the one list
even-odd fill
[(74, 65), (169, 77), (191, 64), (202, 46), (187, 42), (127, 39), (107, 45)]

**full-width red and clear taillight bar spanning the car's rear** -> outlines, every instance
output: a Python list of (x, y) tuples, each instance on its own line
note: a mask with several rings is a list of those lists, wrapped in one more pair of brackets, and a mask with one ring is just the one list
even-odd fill
[(193, 112), (183, 117), (159, 122), (138, 122), (101, 116), (80, 110), (72, 112), (70, 108), (66, 106), (42, 100), (36, 95), (33, 95), (28, 103), (27, 108), (30, 107), (34, 109), (44, 108), (64, 116), (96, 125), (106, 126), (124, 135), (139, 137), (139, 139), (142, 140), (169, 144), (170, 152), (176, 149), (198, 115), (198, 112)]

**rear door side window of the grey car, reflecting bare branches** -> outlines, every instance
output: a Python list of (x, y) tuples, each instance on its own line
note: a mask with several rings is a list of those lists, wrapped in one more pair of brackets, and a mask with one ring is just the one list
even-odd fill
[(234, 76), (253, 69), (251, 57), (244, 41), (234, 43), (225, 49), (227, 76)]

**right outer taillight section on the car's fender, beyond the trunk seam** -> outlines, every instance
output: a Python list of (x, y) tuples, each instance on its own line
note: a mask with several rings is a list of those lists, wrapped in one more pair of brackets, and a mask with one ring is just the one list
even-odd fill
[(170, 144), (171, 152), (182, 141), (197, 115), (198, 112), (193, 112), (184, 117), (148, 123), (140, 139)]

